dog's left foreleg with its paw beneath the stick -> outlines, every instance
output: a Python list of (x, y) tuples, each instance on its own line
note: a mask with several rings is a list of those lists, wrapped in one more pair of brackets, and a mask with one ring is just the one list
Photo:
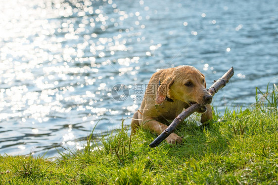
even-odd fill
[[(165, 124), (162, 124), (156, 120), (153, 120), (152, 118), (144, 119), (145, 121), (142, 123), (143, 128), (150, 130), (151, 132), (157, 133), (160, 135), (168, 126)], [(178, 136), (177, 134), (170, 134), (166, 139), (167, 143), (170, 144), (178, 144), (182, 143), (182, 138)]]

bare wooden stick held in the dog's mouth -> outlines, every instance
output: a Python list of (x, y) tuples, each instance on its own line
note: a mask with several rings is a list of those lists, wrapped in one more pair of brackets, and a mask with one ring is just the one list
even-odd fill
[[(225, 73), (221, 78), (219, 78), (215, 83), (208, 89), (208, 92), (214, 96), (218, 90), (222, 89), (230, 80), (230, 78), (233, 75), (233, 67)], [(173, 122), (169, 125), (168, 128), (166, 128), (151, 144), (149, 144), (149, 147), (153, 148), (158, 146), (163, 140), (165, 140), (171, 133), (174, 132), (176, 127), (185, 120), (186, 117), (194, 113), (195, 111), (198, 111), (200, 109), (203, 109), (203, 106), (200, 104), (193, 104), (192, 106), (188, 107), (180, 113)]]

